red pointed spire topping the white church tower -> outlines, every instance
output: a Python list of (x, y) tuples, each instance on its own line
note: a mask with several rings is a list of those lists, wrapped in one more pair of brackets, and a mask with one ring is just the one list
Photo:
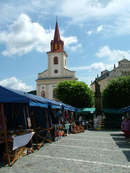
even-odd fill
[(51, 52), (63, 52), (64, 42), (60, 39), (58, 22), (56, 20), (54, 39), (51, 40)]

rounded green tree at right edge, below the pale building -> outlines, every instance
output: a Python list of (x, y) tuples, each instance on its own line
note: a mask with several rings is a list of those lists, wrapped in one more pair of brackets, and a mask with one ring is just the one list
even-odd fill
[(110, 81), (102, 93), (104, 108), (122, 108), (130, 105), (130, 76)]

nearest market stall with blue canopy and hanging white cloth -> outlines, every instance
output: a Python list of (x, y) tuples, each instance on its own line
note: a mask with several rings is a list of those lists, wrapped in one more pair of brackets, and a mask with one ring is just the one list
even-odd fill
[(34, 131), (29, 108), (32, 104), (48, 105), (48, 102), (0, 86), (0, 145), (4, 151), (1, 151), (3, 159), (8, 161), (8, 165), (12, 165), (24, 150), (29, 148), (31, 151)]

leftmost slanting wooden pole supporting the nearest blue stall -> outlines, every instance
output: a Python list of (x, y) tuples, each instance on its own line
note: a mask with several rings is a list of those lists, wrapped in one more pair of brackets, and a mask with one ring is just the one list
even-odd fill
[(5, 115), (4, 115), (4, 104), (1, 104), (1, 118), (2, 118), (2, 124), (4, 128), (4, 140), (5, 140), (5, 149), (8, 157), (8, 165), (10, 166), (10, 155), (8, 150), (8, 139), (7, 139), (7, 128), (6, 128), (6, 122), (5, 122)]

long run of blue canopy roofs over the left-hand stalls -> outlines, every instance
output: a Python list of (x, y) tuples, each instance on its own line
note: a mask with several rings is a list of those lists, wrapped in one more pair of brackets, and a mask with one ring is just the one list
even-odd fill
[(30, 106), (45, 107), (48, 105), (52, 109), (62, 109), (69, 111), (76, 111), (75, 107), (58, 102), (55, 100), (49, 100), (44, 97), (28, 94), (23, 91), (18, 91), (10, 88), (0, 86), (0, 103), (28, 103)]

